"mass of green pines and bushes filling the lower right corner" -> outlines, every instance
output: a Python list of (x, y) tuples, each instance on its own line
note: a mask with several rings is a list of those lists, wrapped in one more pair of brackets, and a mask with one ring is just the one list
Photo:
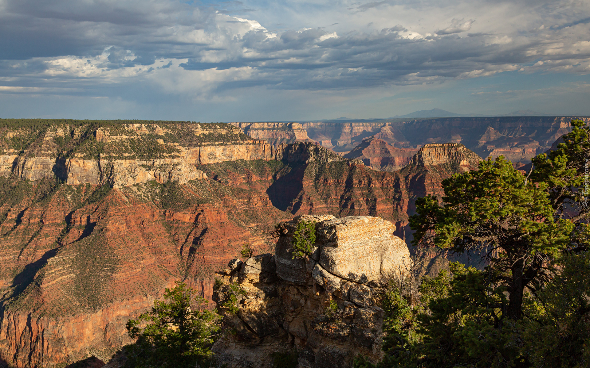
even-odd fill
[(414, 246), (478, 254), (486, 267), (383, 285), (379, 368), (590, 367), (590, 131), (571, 125), (526, 175), (488, 159), (442, 181), (442, 201), (416, 201)]

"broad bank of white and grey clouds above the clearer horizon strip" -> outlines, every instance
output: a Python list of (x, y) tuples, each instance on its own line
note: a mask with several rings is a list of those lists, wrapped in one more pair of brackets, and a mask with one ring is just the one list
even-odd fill
[(240, 6), (244, 14), (174, 0), (0, 0), (0, 80), (13, 88), (5, 92), (67, 83), (104, 95), (119, 91), (110, 85), (145, 84), (213, 98), (256, 86), (336, 91), (507, 71), (590, 73), (589, 2)]

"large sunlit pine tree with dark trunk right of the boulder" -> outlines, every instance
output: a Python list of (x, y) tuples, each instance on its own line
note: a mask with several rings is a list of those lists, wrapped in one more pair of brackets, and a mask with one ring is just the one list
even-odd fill
[(414, 243), (481, 254), (490, 285), (509, 294), (497, 303), (501, 318), (519, 320), (525, 289), (536, 290), (547, 279), (547, 264), (568, 248), (572, 221), (554, 217), (548, 184), (525, 183), (501, 156), (455, 174), (442, 187), (444, 205), (430, 196), (416, 201)]

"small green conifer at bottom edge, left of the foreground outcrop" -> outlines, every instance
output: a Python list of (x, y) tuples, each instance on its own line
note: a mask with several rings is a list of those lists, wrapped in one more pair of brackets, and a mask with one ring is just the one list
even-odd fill
[[(211, 362), (211, 344), (221, 316), (215, 311), (192, 310), (206, 304), (192, 287), (176, 282), (152, 310), (127, 322), (127, 332), (137, 342), (125, 347), (126, 367), (195, 367)], [(143, 327), (145, 326), (145, 327)]]

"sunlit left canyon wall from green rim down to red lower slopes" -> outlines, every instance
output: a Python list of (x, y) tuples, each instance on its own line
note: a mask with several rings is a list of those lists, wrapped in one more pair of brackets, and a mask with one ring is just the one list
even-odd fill
[(0, 147), (0, 358), (17, 367), (108, 358), (165, 286), (210, 299), (214, 270), (289, 218), (197, 168), (281, 164), (228, 124), (2, 120)]

